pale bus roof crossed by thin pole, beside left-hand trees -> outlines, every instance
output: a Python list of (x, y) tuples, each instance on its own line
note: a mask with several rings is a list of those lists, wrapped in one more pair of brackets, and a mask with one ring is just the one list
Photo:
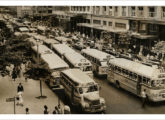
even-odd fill
[[(37, 52), (37, 45), (32, 47), (32, 49)], [(43, 54), (52, 54), (54, 52), (45, 45), (38, 45), (38, 53), (43, 55)]]

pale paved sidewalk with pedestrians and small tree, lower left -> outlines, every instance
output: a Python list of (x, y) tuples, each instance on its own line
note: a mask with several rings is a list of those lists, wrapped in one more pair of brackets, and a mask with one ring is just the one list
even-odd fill
[[(58, 97), (48, 86), (42, 82), (43, 95), (47, 96), (45, 99), (37, 99), (40, 96), (40, 81), (28, 79), (25, 82), (24, 78), (21, 80), (17, 78), (14, 82), (11, 77), (0, 76), (0, 114), (14, 114), (14, 102), (6, 102), (6, 98), (14, 97), (17, 94), (17, 86), (22, 83), (24, 87), (23, 100), (24, 106), (16, 106), (16, 114), (25, 114), (25, 108), (29, 108), (30, 114), (43, 114), (44, 105), (48, 106), (49, 114), (58, 105)], [(60, 101), (61, 108), (64, 104)]]

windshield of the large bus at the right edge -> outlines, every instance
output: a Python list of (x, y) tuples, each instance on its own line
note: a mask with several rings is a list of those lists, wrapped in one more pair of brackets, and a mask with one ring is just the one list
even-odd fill
[(165, 79), (163, 80), (152, 80), (151, 86), (155, 89), (165, 88)]

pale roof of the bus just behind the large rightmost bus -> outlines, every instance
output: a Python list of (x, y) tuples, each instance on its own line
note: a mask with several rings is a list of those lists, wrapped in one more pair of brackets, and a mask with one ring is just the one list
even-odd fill
[(83, 49), (82, 52), (84, 52), (100, 61), (105, 61), (105, 60), (107, 60), (107, 56), (110, 56), (108, 53), (102, 52), (97, 49), (87, 48), (87, 49)]

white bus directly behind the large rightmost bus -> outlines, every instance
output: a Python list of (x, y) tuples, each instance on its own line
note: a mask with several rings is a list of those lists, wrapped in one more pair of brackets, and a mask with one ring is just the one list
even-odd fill
[(107, 75), (107, 57), (110, 56), (109, 54), (90, 48), (83, 49), (81, 54), (92, 62), (92, 70), (95, 75)]

